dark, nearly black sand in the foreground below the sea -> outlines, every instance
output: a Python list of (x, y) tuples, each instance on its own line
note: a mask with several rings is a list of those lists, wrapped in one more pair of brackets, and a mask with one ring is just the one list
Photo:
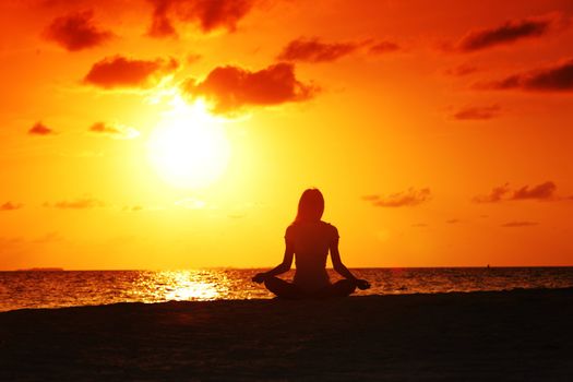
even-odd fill
[(573, 381), (573, 288), (4, 312), (0, 380)]

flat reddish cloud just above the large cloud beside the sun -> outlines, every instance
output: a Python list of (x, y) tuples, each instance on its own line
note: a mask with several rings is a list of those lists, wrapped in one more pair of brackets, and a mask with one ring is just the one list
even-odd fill
[(358, 43), (322, 43), (319, 38), (299, 38), (290, 41), (277, 59), (283, 61), (324, 62), (348, 56), (360, 47)]

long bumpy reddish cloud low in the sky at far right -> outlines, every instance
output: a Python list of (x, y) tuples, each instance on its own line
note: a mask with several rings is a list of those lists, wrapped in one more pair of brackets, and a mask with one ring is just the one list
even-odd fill
[(537, 201), (559, 201), (563, 200), (556, 195), (557, 186), (552, 181), (546, 181), (537, 186), (524, 186), (522, 188), (511, 190), (510, 184), (505, 183), (496, 187), (488, 195), (478, 195), (474, 198), (476, 203), (498, 203), (503, 201), (522, 201), (522, 200), (537, 200)]

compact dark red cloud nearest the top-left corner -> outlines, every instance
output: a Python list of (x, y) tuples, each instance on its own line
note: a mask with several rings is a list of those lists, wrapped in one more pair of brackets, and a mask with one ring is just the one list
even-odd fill
[(60, 16), (44, 32), (45, 38), (52, 40), (69, 51), (93, 48), (114, 37), (109, 31), (99, 29), (93, 22), (94, 12), (83, 11)]

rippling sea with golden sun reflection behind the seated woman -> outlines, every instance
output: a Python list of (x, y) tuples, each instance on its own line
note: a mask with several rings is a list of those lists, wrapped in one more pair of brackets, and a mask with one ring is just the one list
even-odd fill
[[(0, 311), (115, 302), (272, 298), (261, 270), (0, 272)], [(331, 272), (331, 279), (336, 274)], [(282, 275), (291, 279), (293, 271)], [(357, 295), (573, 287), (573, 267), (359, 268)]]

